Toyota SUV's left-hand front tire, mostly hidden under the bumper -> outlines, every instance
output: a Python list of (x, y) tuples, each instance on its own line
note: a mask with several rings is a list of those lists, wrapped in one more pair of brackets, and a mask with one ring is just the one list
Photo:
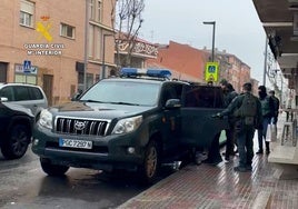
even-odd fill
[(40, 165), (43, 172), (49, 176), (63, 176), (69, 169), (68, 166), (52, 165), (50, 160), (43, 158), (40, 158)]

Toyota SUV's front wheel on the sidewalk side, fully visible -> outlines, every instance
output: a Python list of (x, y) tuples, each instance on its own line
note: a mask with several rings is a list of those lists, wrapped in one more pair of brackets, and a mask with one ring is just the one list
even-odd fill
[(158, 143), (152, 140), (145, 150), (143, 165), (139, 169), (142, 180), (152, 183), (157, 180), (160, 169), (160, 149)]

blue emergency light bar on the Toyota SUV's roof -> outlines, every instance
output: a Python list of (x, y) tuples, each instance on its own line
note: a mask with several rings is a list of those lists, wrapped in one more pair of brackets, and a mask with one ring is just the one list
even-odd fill
[(155, 78), (170, 78), (171, 71), (167, 69), (122, 68), (120, 70), (120, 74), (127, 77), (147, 76)]

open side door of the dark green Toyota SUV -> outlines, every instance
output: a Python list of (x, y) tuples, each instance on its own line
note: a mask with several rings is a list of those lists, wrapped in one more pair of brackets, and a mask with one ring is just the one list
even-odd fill
[(185, 86), (181, 108), (180, 143), (208, 148), (217, 133), (229, 128), (227, 118), (212, 118), (222, 111), (224, 98), (220, 87)]

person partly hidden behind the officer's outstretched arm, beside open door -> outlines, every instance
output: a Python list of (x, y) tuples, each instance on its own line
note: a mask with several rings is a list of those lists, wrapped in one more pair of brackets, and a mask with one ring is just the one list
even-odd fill
[[(235, 91), (231, 83), (229, 83), (227, 80), (220, 81), (220, 87), (224, 91), (224, 108), (227, 108), (230, 102), (238, 96), (238, 93)], [(235, 155), (235, 117), (229, 116), (229, 129), (226, 129), (226, 137), (227, 137), (227, 143), (226, 143), (226, 151), (225, 151), (225, 160), (229, 161), (230, 156)]]

